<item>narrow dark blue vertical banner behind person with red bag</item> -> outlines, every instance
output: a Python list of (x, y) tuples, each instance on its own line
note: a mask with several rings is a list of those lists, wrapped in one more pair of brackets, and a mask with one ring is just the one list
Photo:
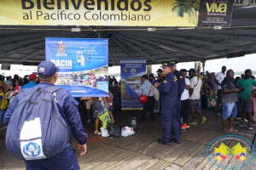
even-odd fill
[(122, 110), (143, 110), (138, 101), (143, 93), (138, 88), (146, 74), (146, 59), (121, 59), (121, 106)]

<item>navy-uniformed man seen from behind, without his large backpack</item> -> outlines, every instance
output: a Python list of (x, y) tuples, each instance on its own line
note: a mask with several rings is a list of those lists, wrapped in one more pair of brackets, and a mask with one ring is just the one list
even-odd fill
[[(59, 71), (59, 68), (55, 67), (55, 64), (52, 62), (41, 62), (38, 65), (38, 77), (40, 79), (40, 83), (34, 88), (46, 89), (49, 86), (54, 86), (55, 82), (57, 81), (57, 71)], [(77, 100), (73, 99), (73, 96), (64, 88), (59, 89), (52, 95), (55, 96), (56, 104), (61, 113), (61, 116), (67, 123), (69, 132), (72, 133), (73, 137), (79, 142), (79, 149), (82, 149), (80, 156), (83, 156), (87, 150), (87, 134), (84, 133), (84, 127), (79, 115), (79, 103)], [(8, 125), (9, 120), (15, 111), (16, 105), (19, 104), (19, 101), (23, 98), (23, 96), (24, 92), (22, 90), (18, 95), (15, 96), (15, 99), (12, 101), (4, 116), (5, 125)], [(67, 144), (66, 149), (62, 150), (58, 155), (41, 160), (26, 160), (26, 169), (80, 169), (78, 158), (72, 148), (71, 143), (72, 137), (69, 139), (69, 143)]]

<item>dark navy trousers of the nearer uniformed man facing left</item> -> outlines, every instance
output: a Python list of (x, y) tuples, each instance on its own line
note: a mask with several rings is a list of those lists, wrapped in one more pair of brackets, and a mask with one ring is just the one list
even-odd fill
[(168, 107), (162, 105), (161, 122), (163, 129), (163, 142), (169, 143), (171, 129), (174, 139), (180, 141), (180, 115), (177, 113), (176, 105)]

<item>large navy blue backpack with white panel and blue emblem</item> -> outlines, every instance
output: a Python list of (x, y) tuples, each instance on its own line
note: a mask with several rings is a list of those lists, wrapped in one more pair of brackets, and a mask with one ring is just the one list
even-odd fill
[(24, 89), (9, 120), (6, 147), (20, 160), (55, 156), (67, 147), (71, 134), (61, 116), (53, 93), (61, 88), (50, 86)]

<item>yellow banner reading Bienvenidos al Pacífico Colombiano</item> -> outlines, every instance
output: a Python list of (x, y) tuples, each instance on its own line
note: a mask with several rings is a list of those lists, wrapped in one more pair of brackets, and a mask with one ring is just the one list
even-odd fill
[(1, 0), (2, 26), (197, 26), (200, 0)]

